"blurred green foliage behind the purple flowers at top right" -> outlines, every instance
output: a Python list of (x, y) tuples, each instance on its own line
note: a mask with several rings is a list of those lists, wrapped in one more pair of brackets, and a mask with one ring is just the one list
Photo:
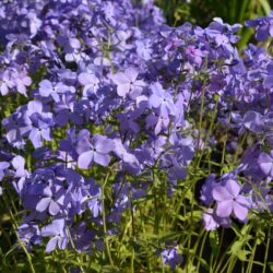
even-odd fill
[[(273, 9), (273, 0), (155, 0), (162, 8), (169, 25), (178, 26), (183, 22), (205, 27), (213, 17), (222, 17), (229, 24), (240, 23), (249, 19), (264, 16)], [(251, 41), (254, 29), (239, 31), (241, 49)]]

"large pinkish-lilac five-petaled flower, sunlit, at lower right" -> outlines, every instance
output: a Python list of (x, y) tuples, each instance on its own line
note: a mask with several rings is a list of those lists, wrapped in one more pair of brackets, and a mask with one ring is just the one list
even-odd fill
[(217, 202), (216, 215), (228, 217), (232, 213), (240, 221), (248, 215), (248, 200), (239, 194), (240, 186), (235, 180), (227, 180), (225, 186), (215, 186), (212, 195)]

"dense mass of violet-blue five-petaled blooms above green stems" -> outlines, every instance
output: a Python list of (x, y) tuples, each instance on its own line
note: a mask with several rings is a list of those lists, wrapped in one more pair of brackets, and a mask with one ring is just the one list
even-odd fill
[[(118, 233), (155, 170), (171, 198), (188, 169), (223, 146), (223, 131), (238, 164), (203, 185), (205, 228), (273, 209), (273, 59), (254, 45), (239, 55), (241, 25), (169, 27), (150, 0), (13, 1), (0, 10), (1, 96), (24, 102), (2, 120), (0, 180), (12, 177), (29, 249), (44, 237), (47, 252), (103, 249), (104, 213), (107, 232)], [(272, 14), (247, 25), (259, 40), (272, 36)], [(176, 257), (163, 252), (173, 268)]]

